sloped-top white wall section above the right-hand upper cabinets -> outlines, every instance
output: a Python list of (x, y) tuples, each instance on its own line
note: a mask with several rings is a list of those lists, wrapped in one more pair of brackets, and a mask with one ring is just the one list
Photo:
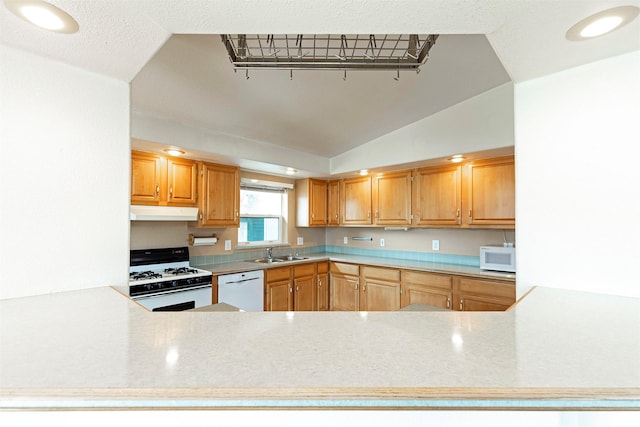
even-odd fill
[(331, 173), (513, 146), (513, 84), (506, 83), (331, 159)]

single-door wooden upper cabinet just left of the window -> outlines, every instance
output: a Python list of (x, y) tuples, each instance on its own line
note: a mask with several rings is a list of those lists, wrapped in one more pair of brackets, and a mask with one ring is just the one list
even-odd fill
[(240, 226), (240, 169), (200, 162), (201, 226)]

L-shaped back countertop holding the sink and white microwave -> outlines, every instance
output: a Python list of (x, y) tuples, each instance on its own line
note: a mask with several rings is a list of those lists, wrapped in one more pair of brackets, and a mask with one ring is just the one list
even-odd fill
[(515, 273), (481, 270), (478, 267), (470, 267), (467, 265), (459, 265), (459, 264), (444, 264), (444, 263), (438, 263), (438, 262), (403, 260), (398, 258), (367, 257), (367, 256), (361, 256), (361, 255), (336, 254), (331, 252), (316, 253), (316, 254), (310, 254), (305, 256), (307, 256), (308, 259), (302, 260), (302, 261), (284, 261), (284, 262), (276, 262), (271, 264), (264, 264), (264, 263), (258, 263), (253, 261), (237, 261), (237, 262), (220, 263), (220, 264), (199, 265), (198, 268), (202, 268), (203, 270), (209, 270), (213, 274), (219, 275), (219, 274), (226, 274), (226, 273), (235, 273), (240, 271), (282, 267), (285, 265), (300, 264), (303, 262), (331, 260), (331, 261), (349, 262), (354, 264), (375, 265), (379, 267), (406, 268), (410, 270), (429, 271), (429, 272), (435, 272), (435, 273), (444, 273), (444, 274), (449, 273), (449, 274), (458, 274), (463, 276), (486, 277), (486, 278), (498, 279), (498, 280), (515, 281), (516, 279)]

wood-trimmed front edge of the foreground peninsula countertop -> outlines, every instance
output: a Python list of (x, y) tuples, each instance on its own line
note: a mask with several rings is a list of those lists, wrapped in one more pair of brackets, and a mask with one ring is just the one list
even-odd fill
[(640, 410), (638, 388), (65, 388), (0, 390), (0, 409)]

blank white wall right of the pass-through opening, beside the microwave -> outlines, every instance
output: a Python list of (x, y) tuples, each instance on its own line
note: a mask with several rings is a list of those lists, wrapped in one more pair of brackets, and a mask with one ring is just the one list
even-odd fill
[(640, 51), (515, 87), (518, 293), (640, 297)]

